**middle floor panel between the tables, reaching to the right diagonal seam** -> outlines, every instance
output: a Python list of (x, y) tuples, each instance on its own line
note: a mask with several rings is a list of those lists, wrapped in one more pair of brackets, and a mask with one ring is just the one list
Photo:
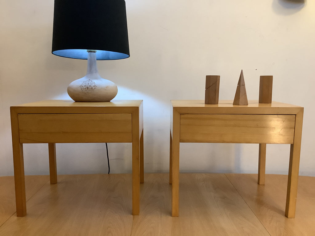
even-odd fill
[(180, 216), (171, 217), (168, 174), (146, 174), (132, 236), (269, 235), (224, 174), (180, 174)]

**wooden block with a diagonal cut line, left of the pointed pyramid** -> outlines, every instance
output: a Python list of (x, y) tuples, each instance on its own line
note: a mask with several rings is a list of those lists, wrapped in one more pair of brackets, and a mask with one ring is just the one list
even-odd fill
[(220, 76), (206, 76), (205, 104), (219, 103)]

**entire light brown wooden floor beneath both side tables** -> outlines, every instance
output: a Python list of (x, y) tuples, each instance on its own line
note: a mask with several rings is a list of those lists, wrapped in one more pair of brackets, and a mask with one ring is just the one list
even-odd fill
[(131, 215), (131, 174), (26, 176), (27, 216), (16, 217), (13, 177), (0, 177), (0, 235), (315, 235), (315, 177), (299, 177), (296, 216), (284, 216), (287, 176), (180, 174), (171, 217), (168, 174), (145, 174)]

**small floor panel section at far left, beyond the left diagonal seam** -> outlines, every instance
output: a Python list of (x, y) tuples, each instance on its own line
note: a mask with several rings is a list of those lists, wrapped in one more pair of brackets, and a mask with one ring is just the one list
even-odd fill
[[(31, 198), (45, 183), (49, 176), (25, 176), (26, 201)], [(14, 177), (0, 177), (0, 226), (16, 212)]]

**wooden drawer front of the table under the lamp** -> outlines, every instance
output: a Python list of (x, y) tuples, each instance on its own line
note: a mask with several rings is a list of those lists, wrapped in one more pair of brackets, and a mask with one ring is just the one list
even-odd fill
[(20, 143), (129, 143), (131, 114), (19, 114)]

